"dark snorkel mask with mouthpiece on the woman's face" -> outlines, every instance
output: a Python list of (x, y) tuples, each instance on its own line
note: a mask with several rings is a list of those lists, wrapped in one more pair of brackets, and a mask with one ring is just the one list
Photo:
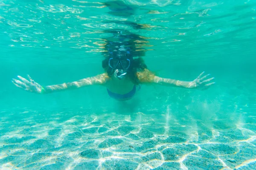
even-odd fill
[(131, 65), (131, 61), (128, 58), (122, 58), (120, 56), (110, 58), (108, 61), (109, 67), (114, 69), (114, 74), (118, 79), (122, 79), (127, 74), (127, 70)]

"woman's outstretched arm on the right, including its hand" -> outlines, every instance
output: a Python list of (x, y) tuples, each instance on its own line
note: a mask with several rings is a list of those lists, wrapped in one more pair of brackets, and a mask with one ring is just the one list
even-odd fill
[(155, 76), (153, 79), (154, 83), (166, 86), (173, 86), (173, 87), (182, 87), (182, 88), (192, 88), (192, 89), (199, 89), (199, 90), (206, 90), (211, 85), (214, 85), (215, 82), (210, 82), (214, 79), (214, 77), (206, 79), (210, 74), (203, 76), (204, 72), (201, 73), (196, 79), (191, 82), (187, 81), (180, 81), (175, 79), (166, 79), (162, 77)]

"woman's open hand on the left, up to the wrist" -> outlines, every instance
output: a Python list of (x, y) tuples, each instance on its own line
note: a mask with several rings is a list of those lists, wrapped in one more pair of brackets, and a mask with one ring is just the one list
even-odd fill
[(30, 82), (21, 76), (18, 76), (18, 78), (20, 80), (12, 79), (13, 84), (16, 85), (17, 87), (23, 88), (25, 91), (30, 91), (33, 93), (38, 93), (38, 94), (42, 93), (42, 89), (44, 88), (41, 85), (39, 85), (37, 82), (35, 82), (33, 79), (31, 79), (29, 75), (28, 75), (28, 78)]

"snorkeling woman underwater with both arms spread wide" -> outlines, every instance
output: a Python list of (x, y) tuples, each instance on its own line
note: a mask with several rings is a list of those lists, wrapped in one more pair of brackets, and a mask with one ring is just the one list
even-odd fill
[[(129, 25), (136, 29), (140, 27), (140, 25), (130, 22), (113, 21), (113, 23)], [(140, 36), (128, 33), (128, 31), (125, 32), (125, 30), (107, 30), (105, 32), (113, 34), (113, 37), (106, 39), (105, 52), (102, 53), (105, 57), (102, 61), (105, 73), (74, 82), (44, 87), (29, 76), (29, 80), (18, 76), (20, 80), (13, 79), (12, 82), (19, 88), (38, 94), (48, 94), (88, 85), (103, 85), (107, 88), (109, 96), (117, 100), (131, 99), (137, 87), (142, 84), (151, 83), (200, 90), (205, 90), (214, 84), (214, 82), (210, 82), (214, 78), (206, 79), (209, 74), (203, 75), (204, 72), (193, 81), (157, 77), (147, 69), (142, 59), (145, 50), (138, 50), (138, 46), (141, 45), (141, 42), (145, 42), (145, 40), (143, 41)]]

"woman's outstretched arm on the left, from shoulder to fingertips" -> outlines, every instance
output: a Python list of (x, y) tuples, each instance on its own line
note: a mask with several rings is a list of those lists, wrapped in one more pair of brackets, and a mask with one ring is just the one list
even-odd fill
[(20, 80), (17, 79), (12, 79), (12, 82), (19, 88), (23, 88), (26, 91), (38, 93), (38, 94), (47, 94), (47, 93), (52, 93), (55, 91), (63, 91), (66, 89), (74, 89), (74, 88), (80, 88), (84, 87), (87, 85), (104, 85), (109, 77), (108, 74), (99, 74), (94, 77), (88, 77), (85, 79), (80, 79), (75, 82), (67, 82), (67, 83), (62, 83), (58, 85), (48, 85), (48, 86), (41, 86), (37, 82), (35, 82), (31, 77), (28, 78), (29, 80), (18, 76)]

